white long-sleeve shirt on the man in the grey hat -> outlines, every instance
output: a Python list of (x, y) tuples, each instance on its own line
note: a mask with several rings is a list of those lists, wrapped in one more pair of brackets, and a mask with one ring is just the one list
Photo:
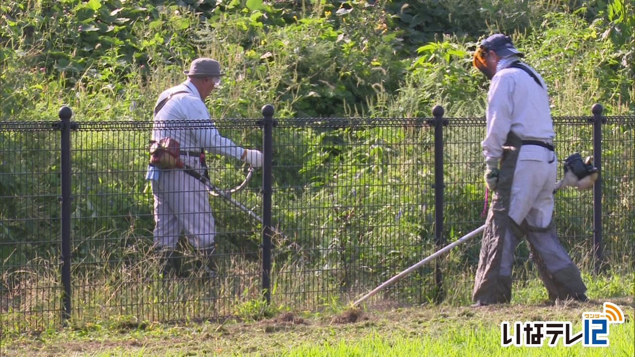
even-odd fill
[(178, 91), (187, 93), (173, 95), (157, 113), (152, 128), (152, 140), (170, 137), (177, 140), (181, 151), (199, 152), (204, 148), (215, 154), (240, 159), (243, 147), (218, 133), (199, 91), (189, 79), (163, 91), (157, 104)]

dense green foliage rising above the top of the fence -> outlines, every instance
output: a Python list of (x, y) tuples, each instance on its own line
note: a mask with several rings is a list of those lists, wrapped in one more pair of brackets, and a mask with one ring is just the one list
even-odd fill
[[(632, 112), (630, 1), (3, 1), (2, 119), (150, 119), (197, 56), (230, 76), (215, 118), (482, 115), (471, 52), (511, 34), (549, 84), (554, 114)], [(582, 110), (582, 112), (580, 112)]]

